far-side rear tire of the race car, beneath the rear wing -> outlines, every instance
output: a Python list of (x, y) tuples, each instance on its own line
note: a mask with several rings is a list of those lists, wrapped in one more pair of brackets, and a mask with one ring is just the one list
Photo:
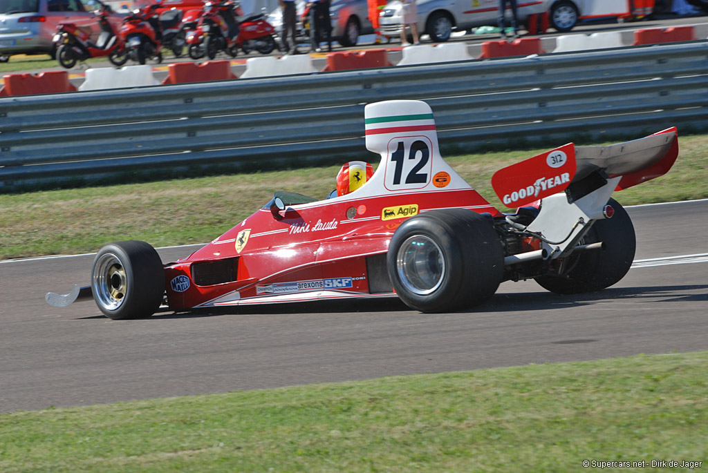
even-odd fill
[(540, 286), (558, 294), (594, 292), (616, 284), (627, 274), (636, 250), (634, 226), (619, 202), (610, 199), (608, 204), (615, 215), (595, 221), (581, 241), (584, 245), (603, 242), (603, 249), (571, 255), (566, 262), (569, 270), (561, 276), (537, 277)]

